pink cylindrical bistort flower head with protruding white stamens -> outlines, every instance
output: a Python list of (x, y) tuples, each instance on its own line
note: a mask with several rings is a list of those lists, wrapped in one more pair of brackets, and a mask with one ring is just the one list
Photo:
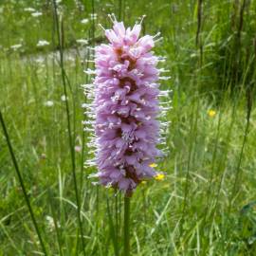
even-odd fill
[(95, 49), (91, 110), (96, 114), (97, 176), (102, 185), (131, 194), (140, 182), (156, 175), (152, 163), (162, 155), (156, 148), (160, 58), (151, 52), (159, 34), (139, 38), (141, 22), (126, 29), (114, 15), (111, 19), (113, 29), (105, 30), (109, 44)]

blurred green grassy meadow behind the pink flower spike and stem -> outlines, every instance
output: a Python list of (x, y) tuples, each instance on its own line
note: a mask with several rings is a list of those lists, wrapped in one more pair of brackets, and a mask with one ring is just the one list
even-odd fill
[(131, 255), (256, 255), (254, 0), (1, 0), (0, 110), (27, 197), (1, 128), (0, 255), (122, 255), (122, 194), (84, 165), (83, 70), (108, 13), (146, 14), (173, 90), (165, 177), (132, 197)]

